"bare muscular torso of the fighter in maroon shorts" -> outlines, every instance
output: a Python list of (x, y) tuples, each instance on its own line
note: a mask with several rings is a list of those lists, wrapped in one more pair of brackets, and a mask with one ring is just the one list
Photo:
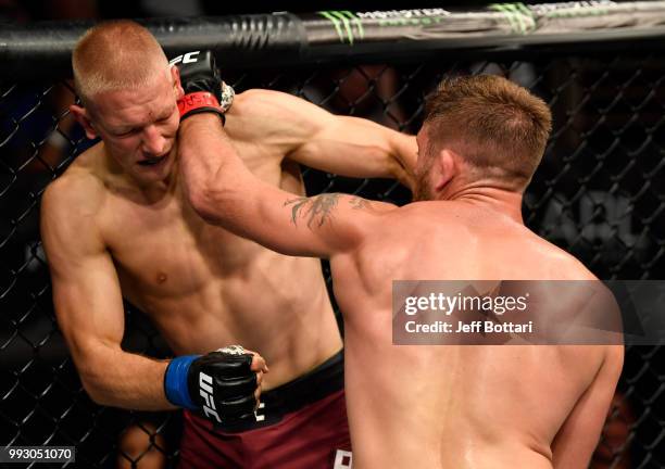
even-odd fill
[[(249, 140), (247, 126), (261, 124), (235, 114), (226, 130), (248, 167), (303, 194), (299, 168), (283, 161), (283, 148), (267, 138)], [(141, 195), (105, 169), (101, 145), (70, 170), (102, 180), (97, 224), (123, 295), (150, 316), (177, 355), (239, 343), (265, 357), (264, 389), (271, 389), (341, 347), (318, 259), (283, 256), (208, 225), (188, 205), (177, 170), (166, 193)]]

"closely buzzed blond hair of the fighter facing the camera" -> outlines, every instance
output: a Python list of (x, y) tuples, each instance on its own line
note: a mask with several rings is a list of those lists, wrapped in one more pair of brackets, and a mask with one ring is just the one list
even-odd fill
[(129, 20), (88, 29), (72, 54), (74, 84), (85, 105), (100, 92), (147, 85), (168, 60), (154, 36)]

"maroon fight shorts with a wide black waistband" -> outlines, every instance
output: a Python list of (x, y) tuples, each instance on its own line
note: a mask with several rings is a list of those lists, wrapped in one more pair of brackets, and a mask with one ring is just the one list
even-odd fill
[(261, 394), (255, 418), (213, 428), (185, 410), (181, 469), (349, 469), (351, 440), (339, 352), (309, 373)]

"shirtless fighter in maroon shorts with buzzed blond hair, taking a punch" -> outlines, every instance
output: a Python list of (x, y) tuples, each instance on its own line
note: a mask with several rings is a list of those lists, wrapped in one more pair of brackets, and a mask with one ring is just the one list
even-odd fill
[[(209, 60), (181, 62), (198, 59)], [(187, 202), (176, 148), (184, 91), (147, 29), (98, 25), (76, 45), (73, 68), (83, 106), (71, 111), (101, 142), (47, 189), (41, 236), (86, 391), (102, 405), (188, 409), (183, 467), (331, 467), (350, 447), (341, 339), (319, 262), (210, 226)], [(237, 96), (226, 119), (251, 172), (299, 195), (298, 163), (406, 180), (403, 162), (416, 159), (414, 137), (275, 91)], [(123, 296), (149, 315), (176, 359), (121, 348)], [(253, 411), (264, 364), (254, 358), (250, 370), (248, 355), (213, 352), (230, 343), (271, 367), (250, 419), (235, 417)]]

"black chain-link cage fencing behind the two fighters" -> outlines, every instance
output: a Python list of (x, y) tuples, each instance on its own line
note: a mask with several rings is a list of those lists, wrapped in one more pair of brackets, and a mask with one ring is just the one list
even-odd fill
[[(488, 53), (463, 61), (319, 65), (243, 73), (224, 69), (238, 92), (269, 88), (334, 113), (417, 131), (425, 96), (444, 76), (500, 74), (551, 106), (554, 130), (524, 203), (526, 224), (602, 279), (665, 278), (665, 58), (630, 53)], [(0, 86), (0, 443), (74, 445), (70, 467), (163, 467), (177, 461), (177, 413), (98, 406), (83, 390), (54, 319), (39, 237), (46, 186), (91, 142), (67, 106), (68, 81)], [(304, 169), (310, 194), (352, 192), (399, 204), (394, 181)], [(324, 264), (327, 272), (327, 266)], [(131, 305), (123, 347), (170, 352)], [(665, 467), (665, 350), (631, 347), (594, 468)], [(555, 396), (553, 396), (555, 398)], [(138, 466), (137, 466), (138, 465)], [(18, 466), (16, 466), (18, 467)]]

